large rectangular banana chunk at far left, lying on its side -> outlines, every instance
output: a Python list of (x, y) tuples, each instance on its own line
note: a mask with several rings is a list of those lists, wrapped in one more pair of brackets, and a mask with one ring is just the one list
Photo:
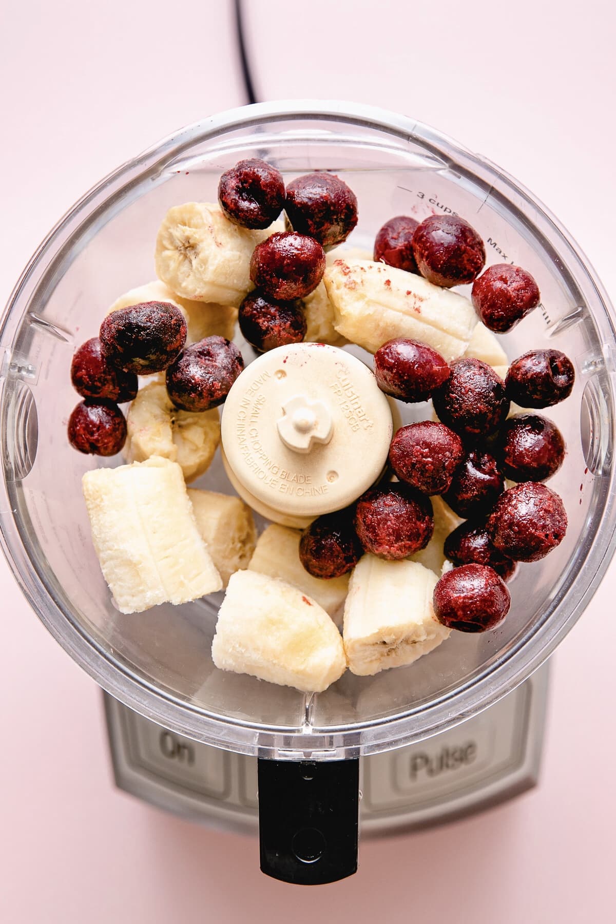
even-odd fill
[(82, 485), (94, 548), (121, 613), (187, 603), (222, 589), (175, 462), (153, 456), (94, 468)]

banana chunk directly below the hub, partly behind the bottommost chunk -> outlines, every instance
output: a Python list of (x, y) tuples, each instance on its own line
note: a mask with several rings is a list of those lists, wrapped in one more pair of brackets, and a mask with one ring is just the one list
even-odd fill
[(298, 529), (288, 529), (273, 523), (257, 542), (248, 568), (262, 575), (277, 577), (308, 594), (332, 617), (338, 612), (348, 593), (349, 575), (323, 580), (312, 577), (299, 560)]

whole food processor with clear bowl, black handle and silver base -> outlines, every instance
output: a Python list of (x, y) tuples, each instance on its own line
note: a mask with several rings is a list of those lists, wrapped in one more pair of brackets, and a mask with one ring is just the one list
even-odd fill
[[(454, 632), (405, 668), (346, 672), (313, 695), (214, 667), (222, 594), (140, 614), (115, 609), (80, 484), (86, 470), (120, 460), (82, 456), (66, 440), (75, 348), (120, 293), (153, 278), (164, 213), (215, 201), (223, 170), (251, 156), (286, 180), (312, 170), (343, 177), (359, 202), (352, 247), (371, 249), (393, 215), (460, 214), (486, 242), (488, 264), (519, 264), (541, 289), (539, 308), (501, 338), (508, 357), (556, 347), (576, 371), (572, 396), (550, 408), (567, 444), (550, 487), (569, 529), (556, 552), (518, 568), (505, 622)], [(30, 605), (105, 691), (116, 783), (238, 830), (255, 831), (259, 809), (261, 869), (305, 883), (355, 871), (357, 830), (445, 821), (534, 784), (544, 662), (614, 550), (615, 346), (608, 299), (556, 219), (485, 157), (412, 118), (353, 103), (259, 103), (182, 129), (91, 189), (34, 254), (3, 316), (0, 523)], [(357, 347), (344, 350), (370, 365)], [(397, 412), (407, 422), (421, 408)], [(220, 453), (195, 484), (233, 492)]]

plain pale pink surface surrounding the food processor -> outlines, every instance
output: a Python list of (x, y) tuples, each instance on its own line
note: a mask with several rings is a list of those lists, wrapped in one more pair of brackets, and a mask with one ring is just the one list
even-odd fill
[[(230, 4), (7, 6), (3, 301), (85, 189), (175, 128), (244, 102)], [(542, 6), (253, 0), (257, 91), (376, 103), (441, 128), (545, 201), (613, 293), (612, 14), (595, 0)], [(98, 689), (47, 636), (4, 560), (0, 590), (7, 924), (610, 917), (616, 567), (553, 659), (540, 786), (466, 821), (367, 843), (355, 878), (303, 891), (260, 875), (256, 840), (176, 821), (116, 792)]]

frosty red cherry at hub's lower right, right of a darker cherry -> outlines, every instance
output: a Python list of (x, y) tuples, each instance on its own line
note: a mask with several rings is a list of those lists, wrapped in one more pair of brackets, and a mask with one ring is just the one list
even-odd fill
[(392, 561), (408, 558), (432, 538), (432, 505), (406, 485), (371, 488), (356, 503), (355, 528), (366, 552)]

